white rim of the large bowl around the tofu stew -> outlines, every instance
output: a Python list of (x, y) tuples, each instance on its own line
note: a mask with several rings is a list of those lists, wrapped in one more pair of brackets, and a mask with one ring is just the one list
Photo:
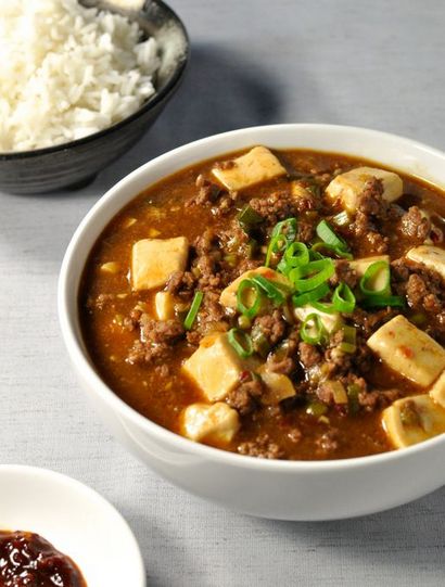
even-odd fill
[[(144, 433), (148, 433), (148, 435), (153, 436), (155, 439), (158, 438), (161, 442), (165, 442), (168, 445), (171, 445), (176, 449), (188, 452), (188, 454), (194, 454), (196, 456), (203, 457), (211, 461), (221, 462), (227, 465), (230, 465), (232, 468), (241, 468), (241, 469), (252, 469), (252, 470), (258, 470), (258, 471), (274, 471), (279, 470), (282, 473), (292, 474), (295, 472), (309, 474), (309, 473), (322, 473), (326, 471), (341, 471), (345, 469), (352, 469), (352, 468), (366, 468), (370, 467), (372, 464), (383, 464), (383, 463), (391, 463), (394, 460), (404, 460), (404, 459), (410, 459), (415, 457), (415, 455), (428, 451), (430, 448), (440, 447), (442, 445), (444, 451), (445, 451), (445, 433), (438, 436), (435, 436), (433, 438), (430, 438), (428, 441), (423, 441), (421, 443), (418, 443), (416, 445), (411, 445), (409, 447), (403, 448), (403, 449), (396, 449), (396, 450), (389, 450), (385, 452), (377, 454), (377, 455), (368, 455), (365, 457), (353, 457), (348, 459), (330, 459), (330, 460), (279, 460), (279, 459), (259, 459), (256, 457), (250, 457), (246, 455), (238, 455), (236, 452), (230, 452), (220, 448), (212, 447), (208, 445), (204, 445), (201, 443), (195, 443), (193, 441), (190, 441), (189, 438), (186, 438), (185, 436), (181, 436), (175, 432), (171, 432), (160, 424), (156, 424), (155, 422), (151, 421), (149, 418), (142, 416), (139, 413), (136, 409), (130, 407), (128, 404), (126, 404), (123, 399), (120, 399), (113, 390), (106, 385), (106, 383), (101, 379), (99, 373), (96, 371), (91, 359), (88, 357), (87, 350), (84, 350), (81, 348), (81, 345), (79, 344), (79, 341), (76, 336), (76, 333), (74, 331), (73, 324), (78, 324), (78, 308), (77, 304), (75, 306), (75, 310), (72, 311), (69, 306), (69, 297), (72, 296), (72, 292), (69, 290), (68, 281), (69, 281), (69, 272), (72, 269), (73, 264), (76, 259), (76, 251), (78, 243), (82, 239), (84, 232), (88, 229), (91, 221), (96, 220), (97, 215), (100, 213), (102, 205), (104, 205), (105, 202), (109, 202), (113, 199), (115, 199), (120, 190), (126, 188), (126, 184), (130, 182), (132, 179), (137, 178), (138, 176), (144, 175), (148, 170), (150, 170), (151, 167), (155, 167), (156, 165), (161, 164), (162, 162), (174, 159), (178, 155), (180, 155), (183, 151), (187, 151), (189, 148), (198, 148), (202, 145), (207, 145), (207, 143), (212, 141), (218, 141), (221, 139), (236, 139), (237, 137), (242, 136), (245, 131), (267, 131), (267, 129), (277, 129), (277, 130), (284, 130), (284, 129), (291, 129), (297, 131), (298, 129), (305, 128), (306, 130), (322, 130), (322, 131), (329, 131), (329, 130), (336, 130), (336, 131), (345, 131), (345, 132), (352, 132), (357, 135), (368, 133), (369, 136), (372, 136), (374, 139), (387, 139), (387, 140), (396, 140), (399, 143), (405, 143), (406, 145), (410, 145), (412, 148), (417, 148), (419, 150), (425, 151), (427, 153), (431, 155), (438, 156), (444, 159), (445, 162), (445, 153), (440, 151), (438, 149), (429, 146), (424, 143), (421, 143), (419, 141), (400, 137), (394, 133), (390, 132), (383, 132), (380, 130), (373, 130), (368, 129), (365, 127), (356, 127), (356, 126), (347, 126), (347, 125), (330, 125), (330, 124), (278, 124), (278, 125), (265, 125), (265, 126), (253, 126), (253, 127), (246, 127), (242, 129), (237, 130), (230, 130), (227, 132), (221, 132), (218, 135), (212, 135), (209, 137), (199, 139), (196, 141), (189, 142), (187, 144), (183, 144), (181, 146), (178, 146), (171, 151), (168, 151), (166, 153), (163, 153), (162, 155), (147, 162), (145, 164), (141, 165), (130, 174), (128, 174), (126, 177), (120, 179), (117, 183), (115, 183), (105, 194), (103, 194), (96, 204), (90, 208), (90, 210), (86, 214), (84, 219), (78, 225), (76, 231), (73, 234), (73, 238), (66, 248), (60, 276), (59, 276), (59, 282), (58, 282), (58, 312), (59, 312), (59, 321), (60, 321), (60, 328), (62, 331), (62, 337), (64, 340), (68, 356), (73, 362), (73, 365), (76, 368), (76, 371), (78, 373), (81, 373), (82, 379), (87, 380), (89, 382), (89, 387), (94, 391), (96, 394), (98, 394), (101, 399), (107, 404), (113, 411), (117, 412), (117, 414), (120, 417), (123, 414), (125, 418), (127, 418), (132, 424), (135, 424), (139, 430), (141, 430)], [(322, 150), (319, 150), (320, 152)], [(225, 150), (225, 153), (230, 152), (229, 150)], [(338, 152), (338, 151), (335, 151)], [(341, 152), (339, 151), (341, 154)], [(224, 154), (224, 153), (221, 153)], [(347, 153), (344, 153), (347, 154)], [(352, 156), (354, 156), (354, 153), (349, 153)], [(203, 161), (202, 157), (196, 159), (196, 163), (199, 161)], [(378, 163), (378, 162), (376, 162)], [(192, 164), (189, 164), (192, 165)], [(384, 165), (384, 164), (383, 164)], [(187, 166), (187, 165), (186, 165)], [(182, 166), (185, 167), (185, 166)], [(148, 183), (150, 186), (150, 182)], [(126, 199), (126, 202), (123, 203), (119, 207), (122, 209), (125, 205), (127, 205), (129, 202), (131, 202), (135, 197), (137, 197), (138, 194), (132, 194)], [(115, 214), (117, 214), (116, 212)], [(113, 216), (115, 216), (115, 214)], [(98, 231), (97, 238), (99, 237), (100, 232)], [(85, 267), (86, 259), (82, 259), (82, 268)], [(79, 276), (80, 278), (80, 276)], [(76, 299), (77, 299), (76, 292)]]

